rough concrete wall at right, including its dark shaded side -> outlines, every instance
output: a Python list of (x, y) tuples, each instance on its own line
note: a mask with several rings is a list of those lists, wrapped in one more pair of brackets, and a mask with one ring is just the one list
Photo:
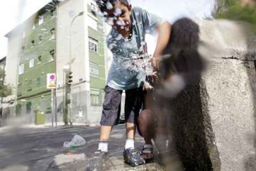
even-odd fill
[(243, 22), (195, 21), (208, 67), (173, 101), (187, 170), (256, 170), (256, 36)]

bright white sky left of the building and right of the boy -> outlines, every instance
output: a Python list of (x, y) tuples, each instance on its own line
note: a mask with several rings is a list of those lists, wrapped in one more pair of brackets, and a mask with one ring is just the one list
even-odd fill
[[(28, 19), (51, 0), (2, 0), (0, 1), (0, 59), (7, 55), (6, 33)], [(64, 0), (62, 0), (64, 1)], [(70, 0), (75, 1), (75, 0)], [(215, 0), (131, 0), (132, 6), (139, 6), (160, 15), (173, 23), (180, 17), (210, 17)]]

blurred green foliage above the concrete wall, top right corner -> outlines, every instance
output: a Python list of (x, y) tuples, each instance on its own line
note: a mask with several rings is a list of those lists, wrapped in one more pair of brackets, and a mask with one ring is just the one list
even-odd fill
[(255, 6), (242, 6), (238, 0), (220, 0), (218, 4), (218, 10), (214, 14), (216, 19), (242, 20), (252, 23), (256, 27)]

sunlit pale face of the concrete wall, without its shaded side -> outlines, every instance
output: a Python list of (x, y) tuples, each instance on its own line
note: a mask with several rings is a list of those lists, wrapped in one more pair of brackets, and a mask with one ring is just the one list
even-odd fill
[[(220, 20), (200, 26), (205, 42), (200, 51), (210, 61), (202, 77), (207, 92), (203, 98), (208, 104), (221, 170), (256, 170), (256, 36), (242, 22)], [(214, 53), (213, 49), (209, 56), (204, 54), (205, 48), (219, 50)]]

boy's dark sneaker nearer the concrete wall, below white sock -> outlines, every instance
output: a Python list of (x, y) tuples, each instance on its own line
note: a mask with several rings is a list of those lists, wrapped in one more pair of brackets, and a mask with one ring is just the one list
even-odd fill
[(134, 148), (125, 149), (122, 155), (124, 156), (124, 162), (132, 167), (145, 164), (145, 161), (140, 156), (140, 153)]

